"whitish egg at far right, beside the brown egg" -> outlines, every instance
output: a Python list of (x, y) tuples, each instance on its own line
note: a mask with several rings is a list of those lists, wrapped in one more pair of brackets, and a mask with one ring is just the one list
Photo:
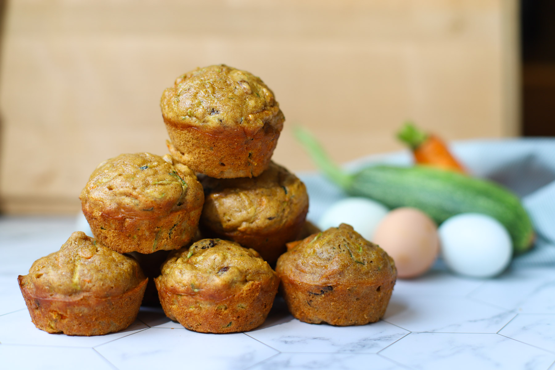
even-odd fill
[(511, 237), (493, 217), (476, 213), (456, 215), (443, 222), (438, 231), (443, 260), (461, 275), (495, 276), (511, 262)]

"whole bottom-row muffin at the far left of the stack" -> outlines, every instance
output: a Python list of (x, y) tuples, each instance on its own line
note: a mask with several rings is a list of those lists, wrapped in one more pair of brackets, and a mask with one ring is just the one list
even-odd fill
[(37, 328), (78, 336), (127, 328), (147, 286), (137, 261), (81, 231), (17, 280)]

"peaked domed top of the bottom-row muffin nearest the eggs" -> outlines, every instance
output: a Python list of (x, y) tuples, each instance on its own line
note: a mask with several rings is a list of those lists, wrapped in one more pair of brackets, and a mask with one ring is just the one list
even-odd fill
[(393, 259), (347, 224), (302, 240), (279, 257), (276, 271), (291, 280), (318, 285), (397, 276)]

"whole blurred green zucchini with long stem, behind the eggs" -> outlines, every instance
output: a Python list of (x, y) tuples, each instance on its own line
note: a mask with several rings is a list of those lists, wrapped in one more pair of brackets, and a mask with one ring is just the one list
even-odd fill
[(429, 166), (377, 165), (346, 174), (329, 160), (309, 131), (297, 128), (295, 135), (324, 174), (349, 195), (370, 197), (390, 208), (415, 207), (438, 224), (460, 213), (486, 214), (506, 227), (515, 254), (532, 246), (534, 230), (526, 210), (501, 185)]

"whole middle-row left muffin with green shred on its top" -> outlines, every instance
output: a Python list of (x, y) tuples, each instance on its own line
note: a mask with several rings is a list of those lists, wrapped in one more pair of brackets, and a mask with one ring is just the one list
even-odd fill
[(193, 171), (170, 155), (121, 154), (98, 165), (79, 197), (94, 236), (114, 251), (173, 250), (195, 235), (204, 203)]

